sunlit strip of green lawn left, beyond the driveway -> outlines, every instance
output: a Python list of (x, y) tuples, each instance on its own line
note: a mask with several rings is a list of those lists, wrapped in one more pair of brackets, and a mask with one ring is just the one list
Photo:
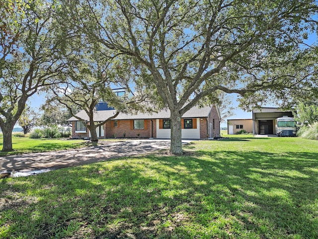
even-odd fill
[[(2, 149), (2, 135), (0, 137), (0, 149)], [(52, 150), (64, 150), (71, 148), (78, 148), (83, 145), (84, 140), (66, 140), (66, 139), (47, 139), (47, 138), (29, 138), (29, 137), (14, 137), (12, 136), (12, 152), (0, 152), (0, 156), (21, 154), (21, 153), (35, 153), (46, 152)]]

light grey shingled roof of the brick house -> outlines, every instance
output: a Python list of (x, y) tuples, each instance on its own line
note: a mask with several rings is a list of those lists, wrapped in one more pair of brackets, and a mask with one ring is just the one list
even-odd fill
[[(189, 111), (187, 111), (182, 118), (206, 118), (209, 116), (211, 111), (211, 107), (193, 107)], [(112, 117), (116, 114), (116, 110), (108, 110), (108, 111), (96, 111), (94, 113), (94, 121), (104, 121), (109, 117)], [(219, 114), (219, 112), (218, 112)], [(85, 119), (88, 121), (88, 116), (85, 111), (80, 111), (76, 116), (80, 117), (81, 119)], [(220, 117), (220, 116), (219, 116)], [(170, 111), (168, 109), (161, 110), (158, 113), (138, 113), (138, 114), (124, 114), (120, 113), (114, 119), (169, 119), (170, 118)], [(75, 117), (71, 117), (67, 121), (78, 121)]]

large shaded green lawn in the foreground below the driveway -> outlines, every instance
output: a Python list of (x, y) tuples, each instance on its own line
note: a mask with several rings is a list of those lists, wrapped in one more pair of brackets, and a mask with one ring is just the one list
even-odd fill
[(0, 238), (318, 238), (318, 141), (184, 149), (2, 179)]

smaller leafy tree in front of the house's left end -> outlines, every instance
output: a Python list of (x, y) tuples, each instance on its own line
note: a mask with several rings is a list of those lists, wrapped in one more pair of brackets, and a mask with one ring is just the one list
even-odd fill
[[(67, 28), (65, 30), (68, 31)], [(70, 32), (67, 34), (72, 35)], [(62, 50), (63, 60), (68, 65), (63, 75), (65, 84), (52, 85), (49, 99), (67, 108), (73, 117), (89, 129), (92, 143), (98, 142), (96, 128), (114, 119), (120, 112), (147, 109), (144, 92), (135, 96), (129, 94), (129, 84), (135, 76), (131, 64), (125, 59), (114, 60), (102, 44), (89, 41), (77, 32)], [(118, 87), (125, 89), (128, 94), (118, 96), (113, 91), (113, 88)], [(96, 122), (96, 105), (101, 101), (107, 102), (116, 111), (108, 119)], [(77, 115), (79, 109), (83, 114)]]

